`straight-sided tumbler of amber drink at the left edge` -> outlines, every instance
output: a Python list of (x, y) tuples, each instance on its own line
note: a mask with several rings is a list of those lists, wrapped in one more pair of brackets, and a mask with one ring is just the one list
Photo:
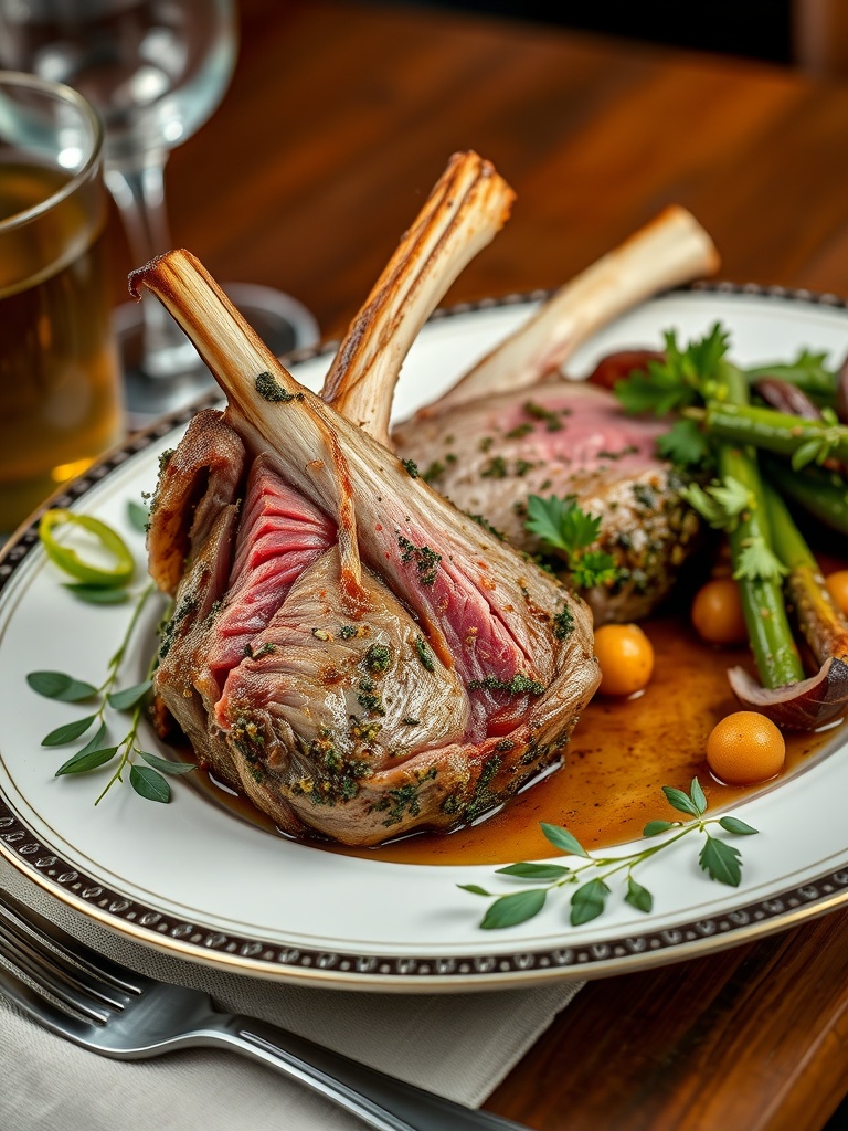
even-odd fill
[(102, 140), (76, 90), (0, 71), (0, 541), (121, 438)]

